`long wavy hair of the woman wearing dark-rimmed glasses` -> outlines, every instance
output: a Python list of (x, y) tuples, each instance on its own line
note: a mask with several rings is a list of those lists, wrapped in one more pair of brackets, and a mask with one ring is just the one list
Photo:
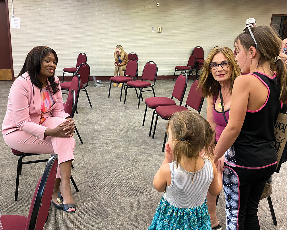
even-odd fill
[(200, 77), (199, 77), (199, 85), (197, 88), (199, 88), (200, 86), (202, 87), (203, 97), (214, 97), (219, 92), (220, 84), (212, 76), (212, 73), (210, 72), (210, 67), (209, 67), (209, 64), (212, 62), (213, 57), (218, 53), (222, 53), (226, 57), (226, 61), (230, 62), (230, 66), (231, 66), (230, 93), (232, 91), (235, 78), (241, 75), (238, 65), (235, 62), (235, 56), (234, 56), (233, 51), (226, 46), (214, 47), (209, 52), (207, 58), (205, 59), (202, 69), (201, 69)]

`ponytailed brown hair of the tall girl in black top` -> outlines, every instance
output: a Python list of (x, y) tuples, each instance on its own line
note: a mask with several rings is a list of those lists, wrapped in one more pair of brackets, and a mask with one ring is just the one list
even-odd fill
[[(284, 62), (276, 60), (275, 57), (279, 56), (282, 48), (282, 39), (273, 26), (256, 26), (251, 28), (251, 31), (257, 42), (257, 51), (260, 55), (259, 64), (262, 62), (269, 62), (270, 69), (276, 71), (277, 79), (280, 83), (280, 101), (287, 102), (287, 76), (286, 66)], [(237, 47), (237, 41), (240, 40), (241, 45), (245, 49), (249, 49), (251, 46), (255, 47), (255, 42), (251, 37), (249, 30), (239, 34), (234, 40), (234, 47)]]

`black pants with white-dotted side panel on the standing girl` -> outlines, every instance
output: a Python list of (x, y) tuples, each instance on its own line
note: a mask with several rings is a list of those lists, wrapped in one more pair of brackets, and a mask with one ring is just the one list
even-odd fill
[(265, 183), (276, 164), (262, 169), (244, 169), (224, 164), (226, 230), (259, 230), (258, 204)]

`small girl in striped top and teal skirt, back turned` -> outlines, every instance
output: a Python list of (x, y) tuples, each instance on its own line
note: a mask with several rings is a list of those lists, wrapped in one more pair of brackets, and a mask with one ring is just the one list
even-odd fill
[(214, 130), (201, 115), (183, 111), (168, 120), (165, 159), (154, 176), (164, 192), (148, 230), (211, 230), (206, 195), (222, 189), (220, 162), (213, 158)]

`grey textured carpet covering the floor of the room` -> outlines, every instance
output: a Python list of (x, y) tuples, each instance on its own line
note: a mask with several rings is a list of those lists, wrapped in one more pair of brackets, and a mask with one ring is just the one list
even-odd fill
[[(189, 80), (187, 93), (192, 80)], [(0, 123), (7, 108), (11, 81), (0, 82)], [(75, 214), (68, 214), (51, 206), (44, 229), (147, 229), (158, 206), (162, 193), (153, 187), (153, 177), (164, 153), (161, 152), (166, 121), (159, 119), (155, 138), (148, 137), (152, 110), (148, 109), (146, 124), (142, 127), (144, 102), (137, 109), (135, 91), (129, 89), (126, 104), (119, 102), (120, 88), (94, 87), (88, 93), (91, 109), (83, 91), (79, 95), (75, 114), (77, 129), (84, 141), (81, 145), (75, 135), (75, 168), (72, 175), (79, 192), (72, 188), (77, 205)], [(104, 83), (108, 86), (108, 83)], [(158, 80), (156, 96), (171, 96), (174, 82)], [(184, 102), (187, 97), (185, 95)], [(152, 97), (145, 92), (144, 98)], [(66, 95), (63, 96), (64, 101)], [(201, 114), (206, 117), (206, 100)], [(48, 155), (30, 159), (49, 158)], [(20, 176), (18, 201), (14, 201), (17, 157), (0, 135), (0, 208), (1, 214), (28, 215), (34, 188), (43, 173), (45, 163), (24, 165)], [(261, 229), (287, 229), (286, 189), (287, 164), (273, 176), (272, 201), (278, 226), (274, 226), (267, 199), (259, 204)], [(224, 196), (220, 196), (218, 218), (225, 229)]]

